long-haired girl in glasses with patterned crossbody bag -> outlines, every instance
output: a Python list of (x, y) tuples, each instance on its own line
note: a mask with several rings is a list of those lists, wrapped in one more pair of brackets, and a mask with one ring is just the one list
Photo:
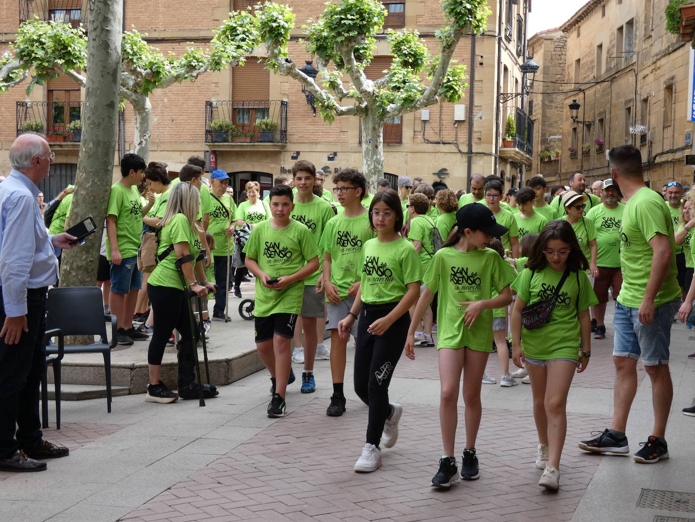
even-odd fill
[[(567, 432), (567, 394), (574, 373), (589, 364), (589, 306), (598, 299), (584, 274), (589, 263), (568, 221), (555, 219), (541, 230), (525, 266), (512, 283), (512, 350), (514, 364), (526, 368), (531, 384), (539, 441), (535, 465), (543, 470), (538, 485), (555, 491)], [(548, 322), (532, 330), (522, 328), (523, 308), (552, 297), (564, 274)]]

